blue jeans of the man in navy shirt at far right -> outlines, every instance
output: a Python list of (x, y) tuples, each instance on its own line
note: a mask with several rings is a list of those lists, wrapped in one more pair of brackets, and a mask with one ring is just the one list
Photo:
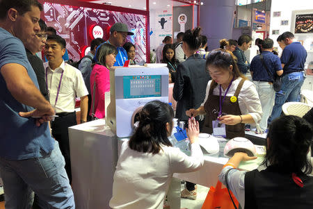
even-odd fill
[(275, 105), (273, 106), (271, 118), (268, 119), (269, 123), (273, 121), (273, 119), (280, 117), (282, 105), (286, 101), (300, 101), (300, 89), (304, 79), (303, 72), (294, 72), (282, 76), (282, 90), (275, 93)]

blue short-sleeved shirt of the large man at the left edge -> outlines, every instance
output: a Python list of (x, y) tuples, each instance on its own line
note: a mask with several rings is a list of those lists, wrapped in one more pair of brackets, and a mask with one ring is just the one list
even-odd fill
[[(8, 63), (24, 66), (29, 77), (38, 87), (37, 77), (27, 60), (21, 40), (0, 28), (0, 69)], [(40, 149), (46, 153), (52, 151), (54, 140), (48, 123), (37, 127), (35, 119), (18, 115), (19, 112), (29, 112), (33, 108), (19, 103), (12, 96), (2, 74), (0, 74), (0, 89), (0, 157), (9, 160), (24, 160), (41, 157)]]

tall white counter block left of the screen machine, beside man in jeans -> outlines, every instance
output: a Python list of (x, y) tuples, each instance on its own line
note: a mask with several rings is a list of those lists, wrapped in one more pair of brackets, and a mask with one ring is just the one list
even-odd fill
[(118, 141), (104, 119), (69, 128), (72, 190), (76, 208), (109, 208)]

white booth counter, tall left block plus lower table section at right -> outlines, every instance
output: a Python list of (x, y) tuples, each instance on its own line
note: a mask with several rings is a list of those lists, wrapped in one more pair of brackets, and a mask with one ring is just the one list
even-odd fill
[[(72, 164), (72, 189), (76, 208), (109, 208), (112, 197), (113, 175), (118, 162), (118, 148), (127, 138), (117, 138), (99, 119), (69, 128)], [(220, 142), (220, 152), (204, 156), (204, 166), (197, 172), (174, 174), (168, 191), (170, 208), (180, 208), (180, 180), (191, 181), (206, 187), (216, 185), (218, 174), (228, 158), (222, 157), (225, 142)], [(188, 153), (187, 153), (188, 154)], [(243, 162), (239, 169), (256, 169), (262, 158)]]

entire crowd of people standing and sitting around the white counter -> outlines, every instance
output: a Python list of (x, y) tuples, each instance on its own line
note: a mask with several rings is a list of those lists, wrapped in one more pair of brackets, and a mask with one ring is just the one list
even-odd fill
[[(76, 98), (81, 123), (104, 118), (109, 69), (127, 60), (136, 65), (136, 47), (126, 42), (134, 33), (120, 22), (111, 26), (108, 40), (93, 40), (79, 62), (67, 62), (66, 42), (40, 19), (42, 9), (37, 0), (0, 0), (0, 174), (6, 208), (75, 207), (68, 127), (77, 124)], [(304, 119), (280, 117), (286, 101), (299, 101), (307, 52), (290, 32), (277, 41), (280, 57), (273, 53), (273, 40), (266, 38), (257, 40), (259, 54), (249, 63), (244, 54), (252, 44), (249, 35), (238, 41), (220, 40), (220, 48), (210, 52), (200, 27), (178, 33), (175, 44), (172, 37), (165, 37), (157, 48), (157, 62), (169, 69), (177, 108), (174, 112), (167, 103), (150, 101), (139, 112), (134, 135), (122, 144), (110, 206), (163, 208), (172, 174), (204, 165), (200, 132), (244, 137), (245, 124), (255, 124), (257, 132), (268, 132), (267, 169), (234, 169), (241, 160), (252, 160), (236, 153), (220, 181), (230, 185), (241, 206), (288, 203), (310, 208), (313, 179), (307, 175), (312, 172), (307, 152), (312, 144), (312, 110)], [(40, 51), (44, 61), (36, 56)], [(245, 76), (249, 70), (252, 81)], [(282, 85), (275, 92), (276, 76)], [(188, 127), (191, 156), (168, 140), (174, 117)], [(279, 201), (268, 197), (268, 188), (277, 192)], [(294, 190), (288, 192), (290, 188)], [(181, 197), (196, 199), (196, 185), (186, 182)]]

